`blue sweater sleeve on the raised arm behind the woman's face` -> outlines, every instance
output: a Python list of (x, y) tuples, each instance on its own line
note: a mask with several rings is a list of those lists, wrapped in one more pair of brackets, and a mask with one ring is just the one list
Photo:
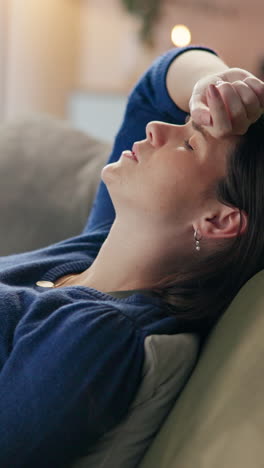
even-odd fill
[[(131, 149), (135, 141), (146, 138), (145, 129), (148, 122), (159, 120), (174, 124), (184, 123), (187, 114), (179, 109), (170, 98), (166, 87), (166, 76), (175, 58), (190, 49), (215, 53), (207, 47), (182, 47), (169, 50), (153, 62), (128, 98), (123, 123), (107, 164), (116, 162), (122, 151)], [(106, 226), (109, 230), (114, 218), (115, 211), (111, 198), (104, 182), (101, 181), (83, 232), (98, 230)]]

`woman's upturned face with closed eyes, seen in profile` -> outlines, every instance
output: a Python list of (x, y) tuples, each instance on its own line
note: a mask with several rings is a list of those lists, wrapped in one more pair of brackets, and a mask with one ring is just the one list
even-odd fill
[(185, 125), (150, 122), (146, 139), (136, 142), (133, 160), (123, 152), (104, 167), (113, 204), (135, 209), (154, 221), (187, 220), (201, 210), (204, 193), (226, 174), (227, 156), (238, 137), (215, 139), (191, 120)]

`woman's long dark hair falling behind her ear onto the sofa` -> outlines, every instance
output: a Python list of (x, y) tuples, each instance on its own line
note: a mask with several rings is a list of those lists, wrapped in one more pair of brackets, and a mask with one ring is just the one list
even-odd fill
[(216, 196), (248, 215), (246, 231), (191, 271), (170, 275), (152, 289), (167, 311), (208, 327), (243, 284), (264, 268), (264, 115), (241, 137), (228, 160), (227, 175), (217, 183)]

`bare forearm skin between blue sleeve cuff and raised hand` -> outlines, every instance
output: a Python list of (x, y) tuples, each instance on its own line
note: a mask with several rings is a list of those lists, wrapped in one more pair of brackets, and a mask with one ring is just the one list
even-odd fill
[(222, 73), (229, 67), (217, 55), (205, 50), (187, 50), (171, 63), (166, 85), (175, 104), (189, 112), (189, 100), (197, 81), (207, 75)]

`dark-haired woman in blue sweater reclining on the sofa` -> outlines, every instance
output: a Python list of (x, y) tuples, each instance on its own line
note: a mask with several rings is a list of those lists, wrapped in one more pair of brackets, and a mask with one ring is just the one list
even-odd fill
[(164, 54), (130, 95), (84, 232), (1, 259), (0, 466), (85, 453), (126, 414), (146, 336), (205, 336), (263, 268), (263, 104), (264, 84), (209, 49)]

